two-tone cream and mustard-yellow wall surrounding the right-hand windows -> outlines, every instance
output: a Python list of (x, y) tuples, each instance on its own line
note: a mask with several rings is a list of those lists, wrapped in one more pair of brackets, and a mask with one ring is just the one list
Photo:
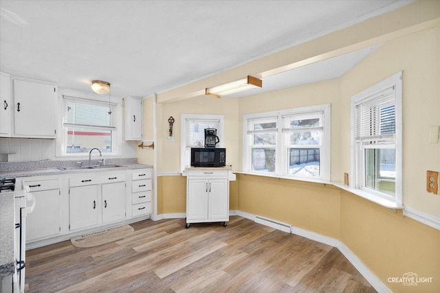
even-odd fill
[[(440, 218), (440, 196), (425, 191), (426, 170), (440, 170), (440, 143), (428, 143), (440, 125), (440, 1), (409, 5), (158, 95), (157, 167), (179, 172), (180, 114), (225, 115), (228, 163), (241, 168), (242, 116), (331, 103), (331, 180), (350, 172), (350, 98), (397, 71), (404, 71), (404, 204)], [(240, 99), (200, 96), (200, 89), (245, 75), (267, 76), (304, 61), (382, 44), (341, 78)], [(273, 69), (271, 71), (271, 69)], [(190, 98), (188, 98), (190, 97)], [(174, 101), (174, 102), (173, 102)], [(177, 102), (176, 102), (177, 101)], [(176, 119), (168, 142), (168, 117)], [(184, 213), (186, 178), (159, 176), (158, 213)], [(263, 215), (326, 235), (346, 245), (395, 292), (440, 288), (440, 231), (331, 185), (239, 174), (230, 187), (230, 209)], [(405, 287), (389, 277), (415, 272), (432, 283)]]

